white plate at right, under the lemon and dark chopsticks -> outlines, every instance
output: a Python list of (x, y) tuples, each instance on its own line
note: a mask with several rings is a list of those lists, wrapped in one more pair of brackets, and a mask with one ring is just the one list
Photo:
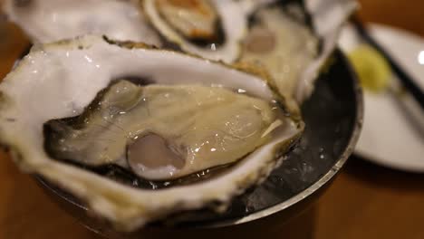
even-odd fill
[[(418, 81), (424, 90), (424, 39), (381, 24), (371, 34)], [(360, 43), (350, 26), (340, 45), (349, 52)], [(396, 81), (393, 76), (392, 81)], [(410, 172), (424, 172), (424, 112), (410, 97), (364, 90), (364, 124), (355, 153), (374, 163)]]

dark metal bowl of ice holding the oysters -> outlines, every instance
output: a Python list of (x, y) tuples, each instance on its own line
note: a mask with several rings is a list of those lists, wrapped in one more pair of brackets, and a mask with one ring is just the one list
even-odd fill
[[(261, 186), (238, 196), (224, 214), (187, 212), (148, 227), (224, 227), (261, 218), (278, 218), (281, 222), (299, 214), (318, 198), (352, 154), (362, 122), (362, 93), (356, 76), (340, 51), (334, 53), (332, 60), (317, 81), (312, 97), (302, 107), (306, 123), (303, 138)], [(129, 238), (129, 234), (113, 231), (108, 222), (92, 217), (90, 208), (74, 196), (42, 177), (36, 179), (82, 225), (108, 237)], [(132, 235), (137, 234), (140, 232)]]

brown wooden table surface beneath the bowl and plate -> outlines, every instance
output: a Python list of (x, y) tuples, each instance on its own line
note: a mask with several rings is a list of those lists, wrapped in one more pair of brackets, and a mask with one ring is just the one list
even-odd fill
[[(361, 2), (365, 20), (392, 24), (424, 36), (423, 0)], [(14, 26), (0, 27), (0, 79), (26, 43)], [(402, 173), (352, 157), (329, 190), (304, 215), (286, 224), (276, 222), (248, 232), (211, 234), (224, 238), (236, 234), (247, 238), (424, 238), (424, 175)], [(148, 235), (143, 238), (151, 237)], [(100, 236), (64, 214), (31, 177), (20, 173), (0, 152), (0, 239), (14, 238)]]

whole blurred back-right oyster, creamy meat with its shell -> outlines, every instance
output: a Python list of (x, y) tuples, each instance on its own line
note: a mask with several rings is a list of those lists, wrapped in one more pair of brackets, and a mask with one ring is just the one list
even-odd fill
[(252, 21), (239, 62), (265, 68), (287, 99), (301, 103), (313, 91), (324, 62), (336, 47), (352, 0), (240, 0)]

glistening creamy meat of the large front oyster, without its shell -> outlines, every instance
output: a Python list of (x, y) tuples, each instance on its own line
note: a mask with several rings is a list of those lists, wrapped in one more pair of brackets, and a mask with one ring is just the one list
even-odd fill
[(217, 87), (119, 81), (94, 102), (73, 124), (49, 124), (57, 132), (46, 141), (52, 155), (91, 166), (119, 164), (151, 180), (233, 163), (281, 124), (279, 108)]

